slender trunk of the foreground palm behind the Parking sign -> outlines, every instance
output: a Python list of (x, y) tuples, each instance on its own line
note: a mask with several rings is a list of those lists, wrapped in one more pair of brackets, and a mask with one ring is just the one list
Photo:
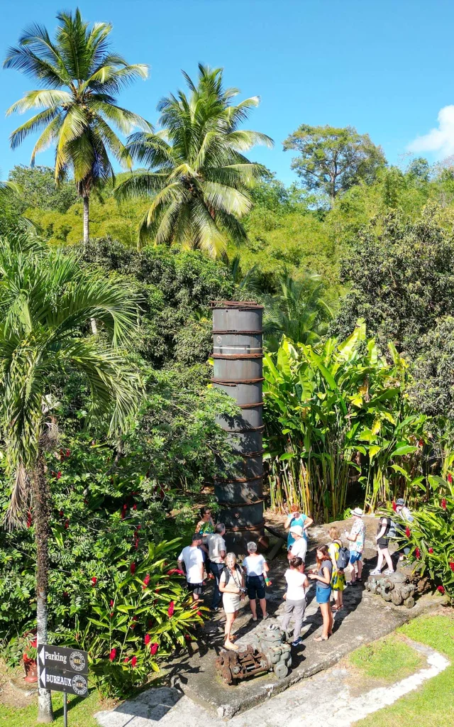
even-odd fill
[[(38, 646), (47, 643), (47, 582), (49, 577), (49, 513), (50, 493), (44, 473), (44, 457), (40, 451), (32, 477), (33, 511), (36, 539), (36, 625)], [(38, 659), (38, 683), (41, 667)], [(54, 721), (49, 689), (38, 689), (38, 722)]]

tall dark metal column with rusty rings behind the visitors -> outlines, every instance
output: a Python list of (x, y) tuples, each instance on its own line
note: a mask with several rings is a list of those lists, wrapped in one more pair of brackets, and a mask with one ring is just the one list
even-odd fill
[(218, 460), (215, 494), (219, 520), (226, 525), (227, 547), (243, 555), (248, 540), (259, 540), (264, 535), (263, 306), (227, 300), (213, 302), (211, 308), (214, 358), (211, 381), (232, 396), (241, 409), (236, 417), (216, 417), (219, 426), (228, 432), (238, 460), (230, 467)]

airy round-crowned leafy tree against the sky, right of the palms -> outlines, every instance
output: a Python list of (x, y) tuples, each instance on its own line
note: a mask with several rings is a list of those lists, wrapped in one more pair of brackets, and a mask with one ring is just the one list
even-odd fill
[(301, 124), (283, 146), (285, 151), (299, 152), (291, 166), (307, 189), (327, 194), (331, 204), (339, 192), (360, 180), (372, 182), (386, 164), (381, 147), (370, 141), (369, 134), (358, 134), (353, 126), (336, 129)]

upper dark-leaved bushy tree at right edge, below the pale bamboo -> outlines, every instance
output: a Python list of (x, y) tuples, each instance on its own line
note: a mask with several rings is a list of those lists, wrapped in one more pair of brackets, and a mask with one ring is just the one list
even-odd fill
[(417, 220), (389, 214), (358, 234), (344, 259), (341, 278), (350, 286), (334, 334), (344, 336), (358, 317), (382, 347), (390, 340), (414, 356), (425, 334), (454, 313), (454, 237), (437, 209)]

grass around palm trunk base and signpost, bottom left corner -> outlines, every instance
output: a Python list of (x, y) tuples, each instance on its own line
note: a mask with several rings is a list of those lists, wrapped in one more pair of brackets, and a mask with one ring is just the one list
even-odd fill
[[(52, 692), (52, 704), (54, 707), (55, 727), (63, 726), (63, 697), (58, 692)], [(79, 699), (76, 696), (68, 696), (68, 727), (99, 727), (93, 715), (100, 710), (108, 709), (100, 702), (97, 691), (86, 699)], [(8, 727), (36, 727), (36, 703), (25, 709), (15, 709), (0, 704), (0, 725)]]

